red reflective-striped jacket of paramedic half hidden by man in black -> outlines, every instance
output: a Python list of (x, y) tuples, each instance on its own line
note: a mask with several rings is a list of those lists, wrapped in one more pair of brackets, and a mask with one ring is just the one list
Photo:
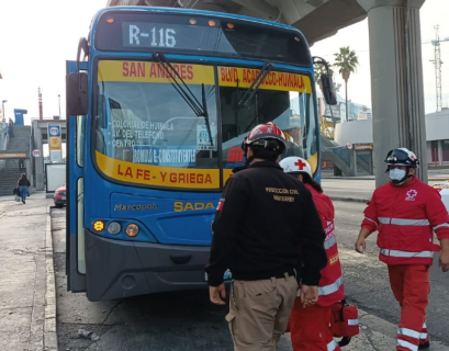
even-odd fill
[(311, 185), (305, 184), (311, 191), (313, 202), (322, 219), (326, 239), (324, 248), (327, 254), (327, 265), (321, 271), (322, 279), (318, 283), (318, 302), (319, 306), (330, 306), (345, 297), (344, 284), (341, 276), (341, 264), (338, 256), (337, 240), (334, 226), (334, 205), (329, 196), (317, 192)]

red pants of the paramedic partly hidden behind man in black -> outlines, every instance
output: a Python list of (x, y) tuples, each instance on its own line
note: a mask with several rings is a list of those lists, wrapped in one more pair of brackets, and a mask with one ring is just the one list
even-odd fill
[(330, 331), (334, 318), (330, 307), (314, 305), (303, 308), (296, 297), (289, 326), (294, 351), (340, 351)]

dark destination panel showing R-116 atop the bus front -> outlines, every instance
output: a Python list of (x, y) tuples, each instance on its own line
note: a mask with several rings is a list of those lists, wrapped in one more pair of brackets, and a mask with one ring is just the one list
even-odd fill
[(302, 34), (240, 20), (155, 13), (103, 14), (96, 31), (99, 50), (202, 53), (310, 66)]

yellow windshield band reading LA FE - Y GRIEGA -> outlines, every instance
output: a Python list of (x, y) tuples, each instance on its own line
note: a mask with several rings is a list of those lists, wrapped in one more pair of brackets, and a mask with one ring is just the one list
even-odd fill
[(108, 177), (135, 184), (178, 189), (220, 189), (217, 169), (159, 167), (133, 163), (96, 151), (97, 165)]

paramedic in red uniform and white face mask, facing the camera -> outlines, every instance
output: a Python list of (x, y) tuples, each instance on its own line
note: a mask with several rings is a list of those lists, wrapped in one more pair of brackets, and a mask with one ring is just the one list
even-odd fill
[[(424, 350), (429, 348), (426, 306), (434, 252), (441, 249), (439, 265), (449, 270), (449, 215), (438, 191), (415, 177), (415, 154), (394, 149), (385, 163), (390, 182), (374, 191), (364, 210), (356, 250), (363, 253), (368, 236), (379, 231), (379, 259), (389, 267), (391, 288), (402, 308), (396, 350)], [(434, 231), (441, 248), (434, 244)]]

